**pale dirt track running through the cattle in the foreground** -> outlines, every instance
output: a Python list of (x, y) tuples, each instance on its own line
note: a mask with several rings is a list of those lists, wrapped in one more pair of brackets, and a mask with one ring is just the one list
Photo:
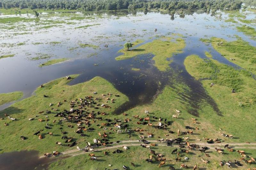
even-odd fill
[[(165, 142), (160, 143), (160, 142), (157, 142), (157, 140), (148, 140), (148, 142), (150, 142), (150, 143), (157, 143), (158, 146), (167, 146)], [(102, 151), (102, 150), (106, 150), (106, 149), (120, 148), (120, 147), (122, 147), (122, 145), (125, 145), (125, 146), (140, 146), (140, 144), (143, 144), (143, 143), (142, 142), (138, 142), (138, 140), (127, 140), (127, 141), (121, 141), (118, 144), (115, 143), (114, 146), (108, 146), (108, 147), (100, 146), (98, 148), (94, 148), (94, 150), (95, 151)], [(195, 143), (195, 144), (197, 144), (199, 146), (207, 146), (210, 149), (214, 149), (214, 147), (223, 148), (223, 146), (225, 146), (226, 144), (229, 144), (229, 147), (232, 147), (232, 148), (256, 149), (256, 143), (250, 143), (250, 144), (246, 144), (246, 143), (208, 144), (208, 143), (200, 142), (200, 143)], [(255, 145), (255, 146), (253, 146), (253, 145)], [(250, 146), (252, 146), (252, 147), (250, 147)], [(169, 146), (169, 147), (171, 147), (171, 146)], [(76, 153), (76, 152), (78, 152), (78, 153)], [(72, 154), (72, 153), (74, 153), (74, 154)], [(88, 153), (88, 152), (84, 152), (82, 149), (80, 151), (78, 151), (77, 149), (72, 149), (72, 150), (61, 152), (61, 155), (77, 156), (77, 155), (81, 155), (81, 154), (85, 154), (85, 153)], [(41, 156), (40, 158), (42, 158), (42, 157), (44, 157), (44, 156)]]

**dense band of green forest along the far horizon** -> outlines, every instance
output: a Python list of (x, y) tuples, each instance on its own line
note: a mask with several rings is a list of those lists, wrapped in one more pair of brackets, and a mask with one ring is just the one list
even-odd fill
[(0, 8), (30, 9), (82, 9), (85, 11), (100, 10), (134, 10), (143, 8), (179, 10), (211, 9), (238, 10), (240, 0), (0, 0)]

